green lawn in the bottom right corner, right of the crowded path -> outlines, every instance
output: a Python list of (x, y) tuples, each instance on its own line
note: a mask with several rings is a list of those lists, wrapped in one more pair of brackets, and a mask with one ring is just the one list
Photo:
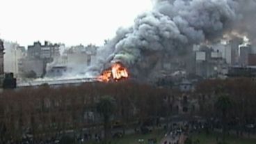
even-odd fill
[[(193, 134), (193, 141), (199, 139), (200, 144), (216, 144), (217, 136), (221, 138), (221, 134)], [(238, 138), (237, 136), (227, 136), (228, 144), (256, 144), (255, 138)]]

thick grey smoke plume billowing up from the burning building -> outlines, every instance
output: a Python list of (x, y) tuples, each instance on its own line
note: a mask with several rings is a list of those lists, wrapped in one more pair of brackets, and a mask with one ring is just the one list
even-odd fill
[(154, 3), (152, 11), (139, 15), (129, 29), (119, 29), (115, 38), (99, 49), (98, 61), (90, 71), (99, 74), (116, 62), (134, 67), (154, 54), (160, 57), (186, 54), (193, 45), (211, 42), (232, 31), (255, 38), (255, 0), (159, 0)]

